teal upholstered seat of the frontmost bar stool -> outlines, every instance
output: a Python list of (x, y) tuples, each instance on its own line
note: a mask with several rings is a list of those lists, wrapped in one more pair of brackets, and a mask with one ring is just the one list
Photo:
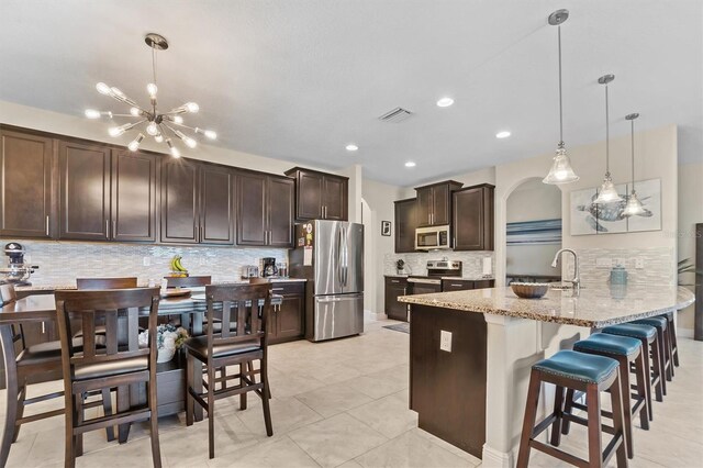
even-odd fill
[(550, 358), (538, 361), (532, 368), (567, 379), (600, 383), (607, 379), (617, 366), (617, 361), (609, 357), (560, 350)]

